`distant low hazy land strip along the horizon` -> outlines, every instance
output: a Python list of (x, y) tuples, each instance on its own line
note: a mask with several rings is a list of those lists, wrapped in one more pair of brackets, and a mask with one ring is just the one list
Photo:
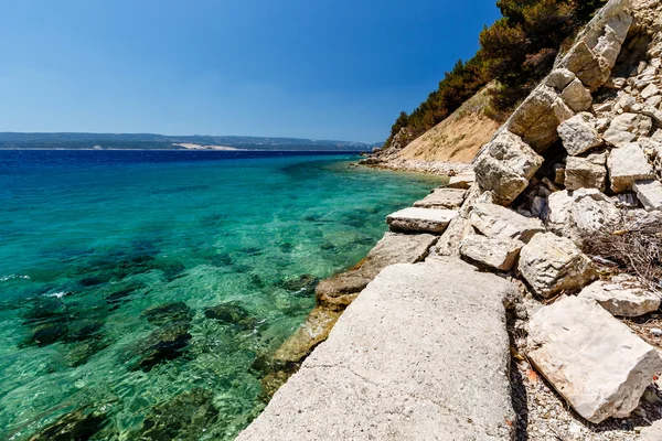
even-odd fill
[(167, 136), (154, 133), (0, 132), (0, 150), (332, 150), (372, 151), (381, 143), (300, 138)]

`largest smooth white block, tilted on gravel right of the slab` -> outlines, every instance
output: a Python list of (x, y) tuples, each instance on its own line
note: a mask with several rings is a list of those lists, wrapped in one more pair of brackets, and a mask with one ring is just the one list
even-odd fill
[(581, 417), (624, 418), (662, 370), (654, 347), (594, 300), (567, 297), (528, 322), (528, 359)]

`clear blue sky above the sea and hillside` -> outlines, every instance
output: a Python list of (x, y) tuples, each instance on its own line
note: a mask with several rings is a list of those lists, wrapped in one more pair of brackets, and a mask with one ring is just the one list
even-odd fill
[(495, 0), (0, 0), (0, 131), (381, 142)]

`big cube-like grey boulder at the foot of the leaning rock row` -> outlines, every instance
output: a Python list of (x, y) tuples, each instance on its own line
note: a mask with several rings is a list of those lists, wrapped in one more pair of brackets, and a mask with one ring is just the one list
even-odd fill
[(543, 158), (520, 137), (503, 130), (481, 149), (473, 170), (480, 190), (491, 191), (499, 203), (508, 205), (526, 189), (542, 164)]

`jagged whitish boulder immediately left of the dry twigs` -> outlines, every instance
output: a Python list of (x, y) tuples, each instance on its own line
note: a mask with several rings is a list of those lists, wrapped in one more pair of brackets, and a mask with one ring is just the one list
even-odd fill
[(621, 220), (621, 212), (597, 189), (555, 192), (547, 200), (547, 227), (581, 245), (587, 237), (609, 233)]

